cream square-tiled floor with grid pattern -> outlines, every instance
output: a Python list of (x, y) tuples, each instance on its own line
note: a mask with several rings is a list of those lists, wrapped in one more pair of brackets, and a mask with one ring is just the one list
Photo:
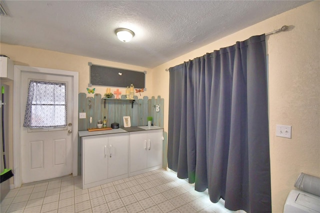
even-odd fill
[(81, 184), (80, 176), (24, 184), (9, 191), (1, 212), (233, 212), (164, 169), (84, 190)]

